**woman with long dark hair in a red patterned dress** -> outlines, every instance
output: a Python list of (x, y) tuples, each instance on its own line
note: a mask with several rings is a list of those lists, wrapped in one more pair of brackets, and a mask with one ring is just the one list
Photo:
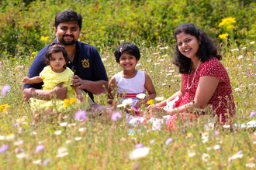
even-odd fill
[(175, 108), (164, 110), (167, 100), (156, 104), (154, 113), (169, 114), (168, 130), (176, 128), (177, 116), (180, 119), (198, 118), (196, 109), (212, 108), (221, 125), (230, 124), (230, 117), (236, 114), (230, 78), (213, 40), (197, 29), (192, 23), (185, 23), (175, 31), (176, 49), (174, 64), (178, 66), (181, 76), (181, 89), (168, 100), (179, 98)]

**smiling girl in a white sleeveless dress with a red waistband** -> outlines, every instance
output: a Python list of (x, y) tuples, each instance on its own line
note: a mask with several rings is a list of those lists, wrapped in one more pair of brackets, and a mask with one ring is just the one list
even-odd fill
[(154, 100), (156, 97), (156, 91), (150, 76), (140, 70), (136, 70), (140, 59), (140, 49), (134, 43), (124, 42), (115, 51), (116, 62), (123, 68), (123, 71), (112, 76), (109, 82), (109, 100), (108, 103), (112, 104), (115, 92), (117, 90), (117, 97), (122, 99), (131, 98), (131, 105), (139, 114), (137, 108), (141, 105), (141, 100), (137, 98), (139, 93), (147, 93), (148, 97), (145, 97), (142, 101), (147, 104), (148, 100)]

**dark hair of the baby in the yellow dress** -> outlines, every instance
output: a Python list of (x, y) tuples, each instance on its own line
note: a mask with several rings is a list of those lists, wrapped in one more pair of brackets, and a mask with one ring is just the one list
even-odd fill
[[(50, 66), (50, 60), (51, 60), (51, 55), (53, 53), (59, 53), (62, 52), (64, 59), (66, 61), (66, 63), (69, 61), (69, 57), (67, 54), (67, 49), (65, 49), (64, 46), (61, 46), (61, 44), (54, 42), (50, 44), (50, 48), (47, 50), (47, 53), (45, 54), (45, 57), (43, 58), (44, 63), (47, 64), (47, 66)], [(63, 66), (64, 69), (66, 68), (66, 66)]]

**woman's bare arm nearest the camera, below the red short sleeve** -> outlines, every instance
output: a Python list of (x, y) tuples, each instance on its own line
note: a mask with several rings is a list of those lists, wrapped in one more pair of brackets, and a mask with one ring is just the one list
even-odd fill
[(202, 76), (199, 79), (199, 86), (195, 92), (195, 99), (189, 104), (185, 104), (174, 110), (168, 110), (168, 114), (191, 112), (195, 108), (205, 109), (209, 100), (213, 97), (218, 84), (221, 82), (219, 78), (214, 76)]

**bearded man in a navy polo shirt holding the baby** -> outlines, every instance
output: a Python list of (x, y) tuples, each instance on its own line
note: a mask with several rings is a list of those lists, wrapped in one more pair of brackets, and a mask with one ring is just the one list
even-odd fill
[[(77, 12), (67, 10), (57, 13), (55, 16), (54, 32), (56, 33), (56, 39), (54, 42), (60, 43), (67, 49), (70, 59), (67, 66), (71, 70), (76, 70), (72, 81), (73, 86), (85, 90), (94, 101), (93, 94), (106, 93), (109, 80), (97, 49), (78, 41), (81, 23), (81, 15)], [(49, 48), (50, 44), (40, 50), (33, 60), (28, 73), (30, 77), (39, 76), (43, 67), (46, 66), (43, 63), (43, 57)], [(64, 100), (67, 88), (61, 88), (62, 84), (58, 84), (57, 87), (54, 87), (54, 90), (41, 90), (43, 83), (26, 83), (23, 89), (23, 99), (27, 101), (29, 98), (37, 96), (50, 100), (50, 97), (55, 95), (58, 99)], [(99, 104), (92, 104), (92, 108), (99, 112), (102, 110), (102, 106)]]

